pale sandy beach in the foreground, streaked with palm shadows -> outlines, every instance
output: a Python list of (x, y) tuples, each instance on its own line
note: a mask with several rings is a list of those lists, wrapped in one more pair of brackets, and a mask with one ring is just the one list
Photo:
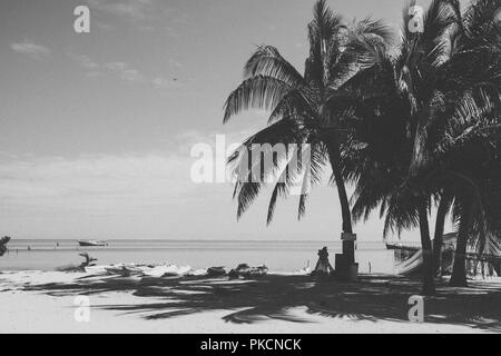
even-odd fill
[[(357, 284), (316, 284), (306, 276), (227, 280), (226, 277), (140, 279), (92, 277), (85, 273), (3, 273), (0, 274), (0, 333), (501, 330), (500, 279), (473, 283), (471, 288), (439, 286), (439, 296), (425, 301), (425, 323), (406, 319), (410, 308), (406, 301), (414, 289), (419, 290), (418, 281), (389, 276), (365, 276)], [(77, 313), (80, 318), (75, 317), (76, 297), (82, 296), (90, 301), (88, 322), (81, 314)], [(464, 314), (465, 305), (469, 314)]]

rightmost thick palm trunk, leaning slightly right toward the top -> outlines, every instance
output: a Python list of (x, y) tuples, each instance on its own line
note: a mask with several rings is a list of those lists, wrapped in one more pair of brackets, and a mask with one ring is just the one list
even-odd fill
[(466, 281), (466, 245), (469, 238), (471, 206), (465, 204), (461, 214), (458, 241), (454, 251), (454, 266), (449, 285), (452, 287), (468, 287)]

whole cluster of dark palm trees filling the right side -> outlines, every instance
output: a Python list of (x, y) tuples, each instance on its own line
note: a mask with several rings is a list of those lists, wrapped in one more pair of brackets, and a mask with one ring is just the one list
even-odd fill
[[(478, 0), (464, 11), (459, 0), (434, 0), (414, 31), (414, 4), (404, 8), (395, 43), (383, 21), (345, 22), (317, 1), (304, 75), (276, 48), (257, 48), (226, 101), (224, 121), (247, 109), (269, 110), (268, 125), (245, 149), (308, 144), (308, 175), (287, 169), (289, 155), (261, 167), (262, 176), (283, 178), (271, 197), (268, 222), (278, 196), (287, 197), (297, 178), (318, 184), (328, 164), (343, 231), (352, 233), (352, 220), (377, 208), (384, 236), (419, 228), (423, 293), (433, 294), (448, 216), (458, 229), (451, 285), (466, 285), (466, 246), (479, 254), (501, 251), (501, 11), (498, 0)], [(247, 165), (242, 158), (242, 150), (230, 157), (235, 169)], [(351, 199), (346, 185), (354, 187)], [(237, 180), (238, 217), (262, 187), (255, 179)], [(306, 198), (303, 191), (299, 218)]]

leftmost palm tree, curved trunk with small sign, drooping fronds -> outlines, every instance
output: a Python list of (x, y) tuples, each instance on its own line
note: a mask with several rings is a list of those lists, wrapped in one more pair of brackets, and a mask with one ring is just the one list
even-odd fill
[[(391, 32), (381, 21), (366, 18), (346, 26), (341, 16), (332, 12), (325, 0), (318, 0), (308, 24), (310, 56), (305, 62), (304, 76), (271, 46), (261, 46), (244, 68), (244, 81), (228, 97), (225, 103), (224, 122), (246, 109), (265, 109), (272, 113), (268, 126), (248, 138), (243, 148), (250, 151), (253, 145), (307, 144), (311, 152), (311, 174), (303, 177), (303, 185), (321, 180), (323, 166), (328, 161), (333, 181), (337, 187), (342, 209), (343, 231), (353, 233), (350, 202), (343, 180), (341, 144), (344, 140), (344, 122), (327, 120), (323, 107), (332, 90), (336, 90), (347, 78), (363, 66), (366, 46), (386, 48)], [(242, 150), (229, 159), (236, 170), (247, 168)], [(292, 168), (289, 155), (273, 158), (271, 167), (262, 167), (259, 159), (249, 168), (264, 168), (257, 178), (277, 176), (267, 214), (273, 218), (276, 199), (286, 197), (298, 172)], [(250, 176), (252, 174), (250, 169)], [(255, 178), (255, 177), (254, 177)], [(256, 181), (257, 180), (257, 181)], [(263, 186), (262, 179), (238, 179), (234, 197), (238, 200), (237, 217), (240, 217), (254, 201)], [(305, 212), (307, 192), (302, 191), (298, 218)], [(346, 243), (346, 244), (345, 244)], [(343, 241), (343, 254), (354, 261), (354, 243)]]

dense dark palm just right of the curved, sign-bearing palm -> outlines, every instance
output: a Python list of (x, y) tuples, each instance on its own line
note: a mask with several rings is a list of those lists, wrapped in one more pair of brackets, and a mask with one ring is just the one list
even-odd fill
[[(413, 32), (411, 2), (403, 12), (402, 43), (396, 53), (374, 48), (364, 70), (347, 80), (327, 106), (331, 116), (358, 123), (344, 147), (345, 177), (355, 186), (353, 214), (367, 217), (376, 207), (390, 230), (420, 228), (424, 259), (423, 293), (433, 294), (429, 212), (436, 188), (422, 179), (422, 131), (436, 101), (436, 76), (448, 60), (443, 38), (454, 23), (448, 1), (432, 1), (423, 32)], [(344, 105), (344, 107), (343, 107)]]

